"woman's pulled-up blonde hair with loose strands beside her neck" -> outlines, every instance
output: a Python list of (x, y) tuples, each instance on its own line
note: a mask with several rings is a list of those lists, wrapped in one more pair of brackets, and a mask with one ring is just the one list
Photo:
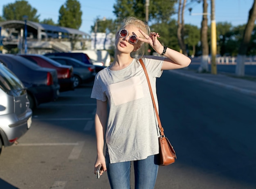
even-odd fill
[[(133, 26), (141, 29), (147, 35), (149, 35), (149, 33), (150, 33), (150, 28), (149, 28), (148, 24), (146, 24), (145, 22), (143, 22), (133, 16), (129, 16), (127, 18), (124, 18), (124, 20), (122, 20), (121, 28), (124, 28), (125, 26), (128, 26), (128, 25), (133, 25)], [(137, 51), (133, 51), (132, 53), (130, 53), (131, 57), (136, 58), (136, 59), (140, 59), (141, 57), (143, 57), (144, 51), (145, 51), (144, 42), (138, 41), (138, 45), (140, 45), (139, 49)]]

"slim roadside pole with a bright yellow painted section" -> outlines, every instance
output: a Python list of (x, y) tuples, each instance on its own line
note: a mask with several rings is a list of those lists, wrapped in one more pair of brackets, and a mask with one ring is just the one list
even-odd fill
[(211, 0), (211, 73), (217, 74), (216, 66), (217, 37), (215, 20), (215, 0)]

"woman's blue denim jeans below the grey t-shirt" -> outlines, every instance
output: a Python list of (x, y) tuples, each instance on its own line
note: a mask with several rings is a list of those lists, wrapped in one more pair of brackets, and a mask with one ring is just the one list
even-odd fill
[[(133, 162), (135, 172), (135, 189), (154, 189), (157, 178), (157, 155), (148, 156), (144, 160)], [(106, 149), (106, 165), (111, 189), (130, 189), (131, 162), (110, 163), (108, 147)]]

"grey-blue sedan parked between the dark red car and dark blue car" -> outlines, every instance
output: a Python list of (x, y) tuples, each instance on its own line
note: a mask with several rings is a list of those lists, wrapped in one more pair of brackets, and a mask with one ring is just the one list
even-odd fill
[(60, 64), (73, 66), (73, 80), (75, 88), (83, 83), (94, 81), (94, 77), (96, 75), (95, 66), (83, 64), (83, 62), (70, 57), (49, 56), (49, 58)]

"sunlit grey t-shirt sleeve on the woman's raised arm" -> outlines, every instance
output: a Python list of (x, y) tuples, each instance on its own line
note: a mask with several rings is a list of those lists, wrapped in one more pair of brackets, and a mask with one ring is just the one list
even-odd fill
[(150, 74), (152, 77), (160, 77), (163, 73), (162, 65), (164, 62), (164, 57), (158, 57), (158, 56), (146, 56), (142, 59), (148, 74)]

